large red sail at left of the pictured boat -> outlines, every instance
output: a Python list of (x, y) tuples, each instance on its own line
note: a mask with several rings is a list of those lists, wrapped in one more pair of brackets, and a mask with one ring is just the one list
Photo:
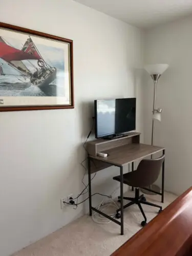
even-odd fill
[(0, 41), (0, 58), (8, 62), (12, 60), (41, 59), (39, 55), (33, 55), (33, 54), (26, 53), (24, 51), (20, 51), (18, 49), (15, 49), (11, 46), (4, 44), (4, 42), (1, 42), (1, 41)]

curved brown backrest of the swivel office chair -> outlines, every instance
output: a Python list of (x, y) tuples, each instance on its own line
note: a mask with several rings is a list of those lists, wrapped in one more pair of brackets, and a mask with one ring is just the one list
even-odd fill
[(141, 160), (135, 171), (139, 177), (138, 187), (150, 186), (158, 179), (164, 158), (165, 155), (156, 159)]

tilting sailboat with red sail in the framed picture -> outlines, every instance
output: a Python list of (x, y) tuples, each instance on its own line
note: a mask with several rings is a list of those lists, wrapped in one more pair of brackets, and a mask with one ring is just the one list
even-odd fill
[[(56, 79), (56, 67), (50, 66), (44, 60), (30, 36), (20, 50), (11, 46), (0, 36), (0, 76), (10, 76), (10, 74), (6, 74), (4, 63), (1, 59), (6, 61), (10, 68), (18, 72), (18, 80), (23, 81), (23, 79), (26, 80), (28, 78), (33, 86), (39, 87), (42, 91)], [(33, 71), (25, 65), (24, 60), (30, 63)], [(36, 60), (36, 63), (31, 60)], [(14, 74), (14, 76), (16, 75)]]

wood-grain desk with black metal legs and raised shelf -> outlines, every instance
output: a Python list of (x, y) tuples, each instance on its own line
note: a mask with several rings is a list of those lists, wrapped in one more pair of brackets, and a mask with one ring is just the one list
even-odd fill
[[(140, 134), (135, 133), (135, 136), (139, 136)], [(163, 154), (165, 154), (165, 148), (164, 147), (160, 147), (160, 146), (152, 146), (152, 145), (147, 145), (147, 144), (141, 144), (139, 143), (139, 140), (135, 140), (135, 138), (133, 138), (134, 136), (131, 136), (131, 140), (130, 140), (130, 136), (128, 135), (127, 137), (125, 137), (125, 140), (122, 140), (120, 142), (118, 141), (101, 141), (99, 140), (99, 145), (97, 143), (97, 140), (94, 142), (90, 142), (91, 147), (94, 145), (96, 145), (97, 143), (97, 150), (100, 150), (101, 148), (103, 149), (102, 151), (104, 153), (109, 154), (108, 157), (98, 157), (96, 156), (96, 153), (99, 151), (95, 151), (95, 155), (91, 155), (89, 154), (88, 156), (88, 177), (89, 177), (89, 211), (90, 211), (90, 216), (92, 216), (92, 210), (98, 212), (100, 215), (110, 219), (111, 221), (117, 223), (118, 225), (121, 226), (121, 234), (123, 234), (123, 166), (129, 163), (132, 163), (132, 171), (133, 169), (133, 165), (134, 165), (134, 161), (137, 161), (139, 159), (142, 159), (144, 157), (147, 156), (151, 156), (153, 154), (156, 154), (158, 152), (163, 151)], [(136, 143), (135, 143), (136, 142)], [(123, 145), (119, 145), (123, 144)], [(115, 145), (115, 147), (113, 147)], [(91, 147), (88, 147), (88, 152), (93, 152), (93, 148), (92, 150), (90, 150)], [(105, 147), (105, 148), (104, 148)], [(111, 148), (110, 148), (111, 147)], [(108, 148), (108, 149), (106, 149)], [(98, 165), (98, 169), (96, 169), (94, 167)], [(103, 165), (102, 165), (103, 164)], [(120, 168), (120, 198), (121, 198), (121, 221), (118, 221), (106, 214), (104, 214), (103, 212), (99, 211), (98, 209), (94, 208), (92, 206), (92, 193), (91, 193), (91, 174), (98, 172), (98, 170), (101, 170), (103, 168), (109, 167), (111, 165), (117, 166)], [(163, 162), (163, 166), (162, 166), (162, 193), (158, 193), (162, 196), (162, 202), (164, 200), (164, 162)]]

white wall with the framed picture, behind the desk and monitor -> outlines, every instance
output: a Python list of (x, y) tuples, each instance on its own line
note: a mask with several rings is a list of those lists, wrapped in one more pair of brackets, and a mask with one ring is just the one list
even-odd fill
[[(33, 243), (83, 214), (60, 209), (60, 198), (82, 189), (93, 100), (137, 95), (142, 131), (139, 29), (69, 0), (2, 0), (1, 21), (74, 40), (74, 110), (0, 113), (0, 255)], [(111, 194), (118, 169), (94, 179)], [(97, 200), (100, 200), (98, 198)]]

